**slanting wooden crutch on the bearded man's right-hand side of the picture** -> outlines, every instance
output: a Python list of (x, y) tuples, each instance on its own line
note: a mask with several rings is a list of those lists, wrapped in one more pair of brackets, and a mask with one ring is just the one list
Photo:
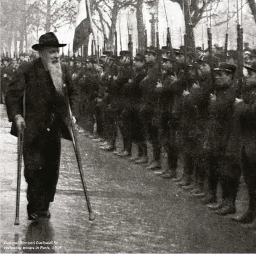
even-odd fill
[[(69, 99), (67, 99), (67, 101), (69, 103)], [(69, 113), (70, 113), (70, 120), (71, 120), (71, 126), (72, 126), (72, 133), (71, 133), (72, 143), (73, 143), (73, 147), (74, 147), (75, 154), (76, 154), (76, 161), (78, 163), (78, 169), (79, 169), (79, 173), (81, 176), (81, 181), (83, 184), (84, 195), (86, 196), (87, 209), (89, 212), (89, 221), (94, 221), (95, 215), (93, 214), (92, 207), (90, 206), (89, 195), (87, 195), (87, 187), (86, 187), (86, 181), (84, 180), (84, 172), (83, 172), (81, 153), (80, 153), (80, 149), (79, 149), (78, 138), (76, 136), (75, 124), (73, 122), (73, 116), (72, 116), (72, 111), (70, 109), (70, 104), (69, 104)]]

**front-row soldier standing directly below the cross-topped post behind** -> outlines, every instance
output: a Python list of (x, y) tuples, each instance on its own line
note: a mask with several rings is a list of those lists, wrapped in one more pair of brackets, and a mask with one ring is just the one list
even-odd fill
[(155, 48), (150, 47), (145, 50), (145, 58), (147, 65), (147, 75), (140, 82), (142, 104), (140, 109), (140, 119), (143, 122), (144, 136), (152, 142), (153, 161), (147, 169), (161, 168), (161, 144), (159, 139), (159, 107), (158, 93), (156, 91), (158, 81), (161, 81), (161, 75), (158, 69), (157, 52)]

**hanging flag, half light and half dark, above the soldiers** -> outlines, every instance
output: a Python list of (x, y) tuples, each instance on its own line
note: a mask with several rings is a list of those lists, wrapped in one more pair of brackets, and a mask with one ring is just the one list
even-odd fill
[[(81, 1), (83, 3), (83, 1)], [(86, 12), (84, 11), (86, 9)], [(81, 21), (81, 16), (86, 13), (86, 18)], [(80, 22), (79, 22), (80, 19)], [(79, 5), (78, 11), (78, 19), (79, 25), (75, 28), (75, 35), (73, 39), (73, 52), (77, 52), (79, 48), (84, 45), (84, 42), (89, 42), (90, 33), (92, 33), (92, 29), (90, 26), (90, 20), (88, 15), (88, 10), (84, 6)], [(78, 23), (77, 22), (77, 23)], [(88, 45), (84, 45), (84, 47), (88, 47)]]

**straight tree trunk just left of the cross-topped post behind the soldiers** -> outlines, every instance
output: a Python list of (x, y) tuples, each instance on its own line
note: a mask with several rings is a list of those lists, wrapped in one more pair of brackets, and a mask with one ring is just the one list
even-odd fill
[(144, 19), (143, 19), (143, 0), (138, 0), (136, 4), (136, 20), (137, 20), (137, 31), (138, 31), (138, 50), (144, 51)]

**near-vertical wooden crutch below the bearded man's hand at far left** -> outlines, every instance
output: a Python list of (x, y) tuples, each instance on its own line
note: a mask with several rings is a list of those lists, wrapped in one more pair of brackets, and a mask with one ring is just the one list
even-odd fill
[(22, 167), (22, 155), (24, 144), (24, 128), (22, 132), (18, 133), (18, 175), (17, 175), (17, 190), (16, 190), (16, 216), (15, 225), (19, 225), (19, 197), (21, 195), (21, 167)]

